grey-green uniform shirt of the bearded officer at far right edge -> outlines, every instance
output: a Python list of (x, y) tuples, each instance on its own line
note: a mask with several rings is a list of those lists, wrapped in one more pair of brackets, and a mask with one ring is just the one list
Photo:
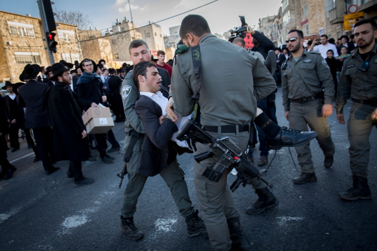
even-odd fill
[(360, 70), (364, 64), (359, 49), (352, 56), (344, 59), (342, 73), (340, 73), (338, 93), (336, 97), (336, 113), (343, 113), (343, 106), (349, 97), (352, 99), (368, 100), (377, 98), (377, 43), (365, 62), (366, 71)]

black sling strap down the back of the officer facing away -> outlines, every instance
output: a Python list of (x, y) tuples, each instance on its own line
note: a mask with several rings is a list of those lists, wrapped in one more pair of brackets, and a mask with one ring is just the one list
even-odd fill
[(201, 88), (201, 55), (200, 55), (200, 46), (194, 46), (191, 47), (191, 53), (192, 53), (192, 63), (194, 66), (194, 73), (195, 73), (195, 87), (193, 90), (192, 99), (194, 100), (194, 115), (193, 120), (196, 120), (199, 122), (200, 120), (200, 107), (199, 107), (199, 97), (200, 97), (200, 88)]

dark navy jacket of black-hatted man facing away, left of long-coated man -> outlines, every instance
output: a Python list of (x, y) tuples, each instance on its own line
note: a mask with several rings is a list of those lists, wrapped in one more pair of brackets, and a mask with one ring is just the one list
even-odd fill
[(25, 128), (49, 126), (49, 116), (46, 103), (48, 86), (44, 83), (30, 80), (26, 85), (18, 88), (18, 102), (20, 107), (26, 107)]

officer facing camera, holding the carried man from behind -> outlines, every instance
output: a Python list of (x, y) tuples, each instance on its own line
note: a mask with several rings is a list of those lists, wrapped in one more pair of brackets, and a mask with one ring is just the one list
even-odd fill
[[(148, 45), (143, 40), (132, 41), (129, 46), (129, 52), (134, 65), (144, 61), (150, 62), (151, 54)], [(162, 68), (157, 67), (157, 70), (158, 72), (167, 73), (167, 71)], [(136, 212), (136, 204), (148, 176), (155, 174), (151, 175), (150, 170), (139, 168), (141, 152), (142, 150), (148, 151), (150, 146), (143, 146), (144, 137), (147, 136), (144, 135), (143, 122), (135, 111), (135, 102), (139, 97), (139, 89), (132, 79), (132, 73), (132, 71), (127, 73), (120, 88), (124, 114), (126, 116), (126, 122), (124, 123), (126, 130), (124, 149), (132, 151), (129, 162), (127, 163), (129, 180), (123, 196), (121, 229), (130, 239), (138, 240), (144, 237), (144, 233), (135, 226), (133, 214)], [(135, 136), (135, 133), (138, 134), (138, 137)], [(155, 163), (151, 163), (151, 166), (153, 166), (153, 164)], [(205, 232), (203, 220), (198, 216), (198, 210), (194, 210), (187, 184), (184, 180), (184, 173), (179, 168), (178, 163), (176, 161), (169, 163), (169, 166), (162, 169), (159, 174), (170, 188), (173, 199), (179, 208), (179, 213), (185, 217), (187, 234), (190, 237), (194, 237)]]

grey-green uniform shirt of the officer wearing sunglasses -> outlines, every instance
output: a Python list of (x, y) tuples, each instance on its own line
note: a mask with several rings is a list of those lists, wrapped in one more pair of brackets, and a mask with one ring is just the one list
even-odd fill
[(315, 96), (322, 88), (325, 93), (325, 104), (333, 102), (334, 80), (326, 59), (323, 59), (320, 53), (304, 50), (302, 58), (297, 62), (291, 54), (282, 63), (281, 75), (285, 111), (289, 111), (290, 99)]

